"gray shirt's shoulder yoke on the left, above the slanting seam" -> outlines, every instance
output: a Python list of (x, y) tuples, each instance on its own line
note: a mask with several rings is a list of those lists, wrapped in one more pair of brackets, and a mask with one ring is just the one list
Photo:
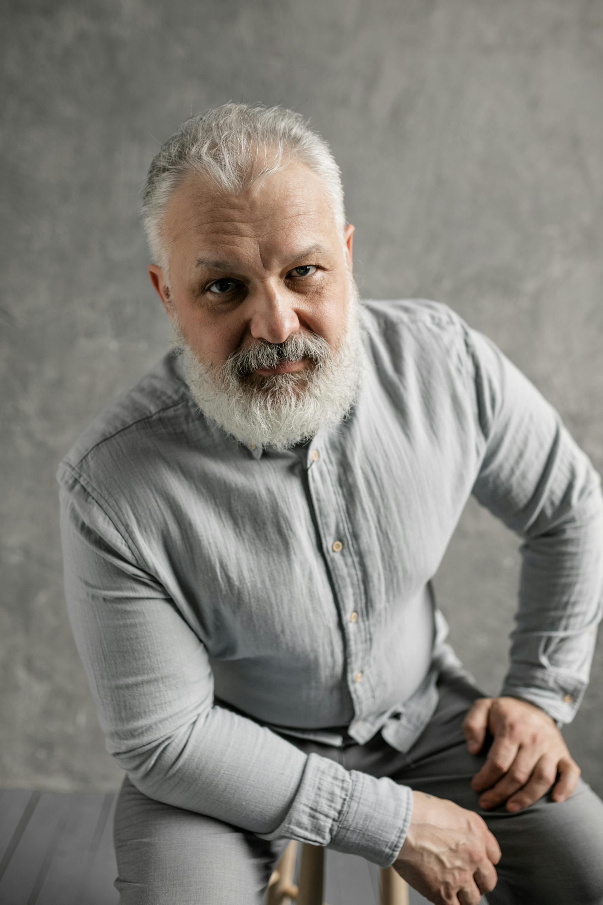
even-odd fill
[(166, 418), (177, 417), (189, 404), (179, 358), (170, 350), (80, 433), (59, 463), (57, 480), (90, 472), (94, 462), (115, 458), (116, 451), (122, 456), (133, 452), (141, 436), (160, 432)]

